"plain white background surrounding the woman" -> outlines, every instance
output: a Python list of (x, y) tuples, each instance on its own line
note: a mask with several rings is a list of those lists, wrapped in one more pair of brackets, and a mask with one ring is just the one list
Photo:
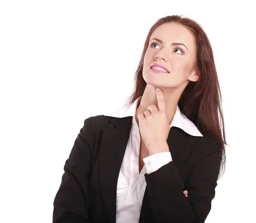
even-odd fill
[(84, 119), (124, 105), (148, 30), (172, 14), (204, 28), (223, 97), (230, 146), (206, 223), (255, 220), (256, 19), (249, 1), (2, 0), (0, 222), (52, 222)]

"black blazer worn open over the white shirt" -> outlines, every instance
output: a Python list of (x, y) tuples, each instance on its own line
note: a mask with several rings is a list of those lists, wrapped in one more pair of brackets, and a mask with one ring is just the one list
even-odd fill
[[(131, 116), (85, 119), (64, 165), (53, 223), (116, 222), (116, 185), (131, 124)], [(202, 223), (215, 197), (220, 145), (177, 127), (170, 129), (167, 143), (172, 161), (145, 174), (139, 223)]]

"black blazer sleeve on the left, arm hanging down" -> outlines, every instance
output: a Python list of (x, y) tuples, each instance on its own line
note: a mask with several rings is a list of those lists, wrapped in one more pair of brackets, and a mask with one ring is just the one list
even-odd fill
[(61, 185), (53, 202), (53, 223), (89, 223), (88, 184), (90, 179), (90, 120), (85, 119), (69, 158)]

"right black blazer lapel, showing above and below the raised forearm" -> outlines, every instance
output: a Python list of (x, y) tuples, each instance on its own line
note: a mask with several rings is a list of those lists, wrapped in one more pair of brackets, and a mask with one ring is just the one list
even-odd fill
[[(178, 171), (180, 170), (180, 167), (182, 166), (191, 149), (191, 146), (186, 143), (186, 136), (188, 136), (188, 134), (180, 128), (171, 127), (167, 138), (167, 144), (172, 155), (172, 161), (175, 163)], [(139, 223), (145, 223), (149, 215), (153, 216), (152, 211), (153, 210), (148, 194), (148, 187), (146, 186)]]

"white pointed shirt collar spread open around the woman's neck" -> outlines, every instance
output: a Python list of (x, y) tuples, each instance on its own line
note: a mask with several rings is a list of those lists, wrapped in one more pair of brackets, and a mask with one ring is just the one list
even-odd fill
[[(116, 118), (124, 118), (128, 116), (135, 117), (136, 109), (138, 102), (141, 100), (142, 96), (137, 98), (133, 103), (126, 105), (118, 110), (115, 110), (111, 113), (106, 113), (104, 116), (111, 116)], [(192, 121), (190, 121), (181, 111), (177, 105), (175, 115), (173, 116), (170, 127), (175, 126), (191, 136), (203, 136), (198, 128), (194, 125)]]

